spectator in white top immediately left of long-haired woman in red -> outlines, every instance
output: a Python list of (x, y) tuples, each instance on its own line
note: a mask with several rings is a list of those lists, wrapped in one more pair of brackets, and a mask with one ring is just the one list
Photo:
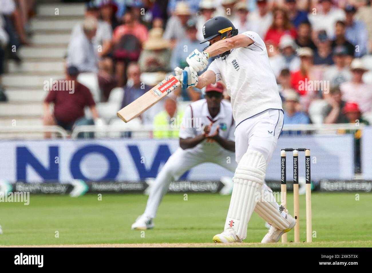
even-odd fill
[(249, 13), (248, 21), (251, 25), (257, 26), (257, 34), (264, 38), (273, 23), (273, 14), (270, 12), (267, 0), (257, 0), (257, 10)]

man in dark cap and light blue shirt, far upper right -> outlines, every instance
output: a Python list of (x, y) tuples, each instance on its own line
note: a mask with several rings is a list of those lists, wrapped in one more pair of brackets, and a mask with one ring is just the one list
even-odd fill
[[(364, 23), (360, 20), (355, 20), (356, 7), (350, 4), (345, 6), (346, 13), (346, 39), (357, 46), (355, 49), (354, 56), (356, 58), (361, 58), (367, 54), (367, 44), (368, 44), (368, 32)], [(372, 14), (371, 14), (372, 16)]]

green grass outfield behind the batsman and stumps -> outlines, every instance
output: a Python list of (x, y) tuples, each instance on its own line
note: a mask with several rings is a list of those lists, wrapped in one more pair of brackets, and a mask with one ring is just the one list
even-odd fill
[[(312, 193), (314, 243), (285, 246), (372, 247), (372, 194), (360, 193), (360, 201), (355, 198), (353, 193)], [(93, 194), (79, 198), (31, 195), (29, 205), (0, 203), (0, 225), (4, 232), (0, 245), (222, 246), (210, 243), (223, 230), (230, 196), (189, 193), (187, 199), (184, 201), (183, 194), (167, 194), (158, 210), (155, 228), (141, 233), (132, 231), (131, 224), (144, 211), (145, 195), (103, 194), (102, 201)], [(292, 212), (293, 196), (288, 194), (287, 200)], [(59, 238), (55, 238), (56, 231)], [(232, 247), (283, 246), (252, 244), (260, 242), (266, 233), (263, 220), (253, 214), (244, 240), (249, 244)], [(300, 240), (306, 240), (305, 196), (300, 196), (300, 233)], [(288, 233), (290, 240), (293, 231)]]

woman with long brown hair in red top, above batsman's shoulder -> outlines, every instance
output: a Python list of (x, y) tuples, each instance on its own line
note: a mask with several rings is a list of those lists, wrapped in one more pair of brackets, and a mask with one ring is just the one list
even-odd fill
[(283, 9), (275, 9), (273, 16), (274, 20), (266, 32), (265, 42), (271, 40), (272, 43), (278, 46), (280, 38), (285, 34), (291, 35), (293, 39), (296, 39), (296, 29), (292, 26), (291, 21), (289, 21), (286, 12)]

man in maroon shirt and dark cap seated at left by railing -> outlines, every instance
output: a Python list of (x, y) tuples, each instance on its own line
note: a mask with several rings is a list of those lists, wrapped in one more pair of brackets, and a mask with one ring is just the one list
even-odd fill
[[(77, 81), (78, 70), (75, 66), (67, 69), (65, 80), (58, 81), (49, 90), (44, 101), (44, 125), (59, 125), (65, 130), (72, 130), (74, 125), (94, 124), (93, 120), (85, 118), (84, 107), (89, 107), (94, 120), (98, 118), (96, 104), (89, 89)], [(73, 87), (72, 89), (66, 88)], [(67, 89), (67, 90), (66, 90)], [(54, 113), (50, 104), (54, 104)], [(45, 133), (46, 138), (51, 133)]]

